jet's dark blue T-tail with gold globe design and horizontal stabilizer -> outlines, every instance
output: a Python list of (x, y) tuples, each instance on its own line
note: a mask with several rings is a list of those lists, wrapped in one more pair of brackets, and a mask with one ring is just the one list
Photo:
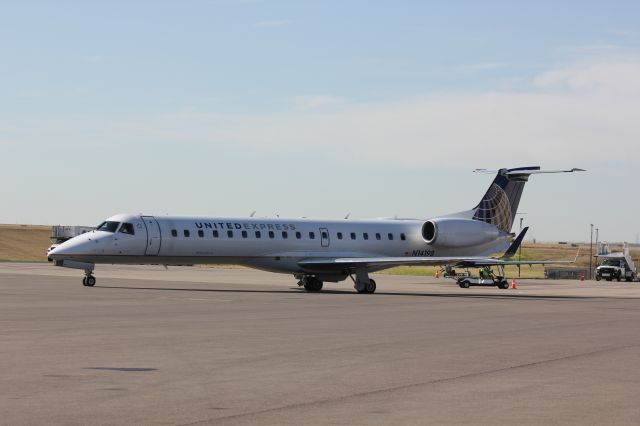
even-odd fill
[[(491, 186), (484, 194), (482, 200), (472, 209), (473, 219), (491, 223), (498, 229), (510, 232), (513, 221), (518, 212), (520, 197), (524, 184), (532, 174), (540, 173), (570, 173), (584, 171), (582, 169), (570, 170), (540, 170), (540, 167), (518, 167), (515, 169), (500, 169)], [(489, 172), (478, 169), (476, 172)]]

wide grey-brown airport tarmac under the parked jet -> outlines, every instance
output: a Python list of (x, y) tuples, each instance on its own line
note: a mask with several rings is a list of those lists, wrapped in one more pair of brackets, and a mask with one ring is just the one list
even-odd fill
[(640, 424), (640, 283), (0, 263), (0, 424)]

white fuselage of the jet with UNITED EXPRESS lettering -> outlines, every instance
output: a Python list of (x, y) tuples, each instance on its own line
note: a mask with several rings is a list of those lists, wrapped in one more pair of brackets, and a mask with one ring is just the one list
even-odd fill
[[(54, 260), (129, 264), (241, 264), (306, 273), (308, 258), (480, 255), (506, 238), (456, 247), (428, 244), (423, 220), (310, 220), (284, 218), (115, 215), (95, 231), (57, 247)], [(378, 268), (380, 269), (380, 268)]]

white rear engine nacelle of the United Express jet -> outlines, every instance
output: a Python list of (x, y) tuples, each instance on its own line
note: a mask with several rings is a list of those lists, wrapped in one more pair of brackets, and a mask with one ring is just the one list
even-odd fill
[(429, 245), (468, 247), (489, 243), (500, 237), (495, 226), (473, 219), (439, 218), (422, 225), (422, 238)]

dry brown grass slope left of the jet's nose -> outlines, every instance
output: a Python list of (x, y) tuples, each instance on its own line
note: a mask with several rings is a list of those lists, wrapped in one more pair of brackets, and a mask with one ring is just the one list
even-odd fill
[(0, 225), (0, 260), (46, 262), (50, 236), (50, 226)]

